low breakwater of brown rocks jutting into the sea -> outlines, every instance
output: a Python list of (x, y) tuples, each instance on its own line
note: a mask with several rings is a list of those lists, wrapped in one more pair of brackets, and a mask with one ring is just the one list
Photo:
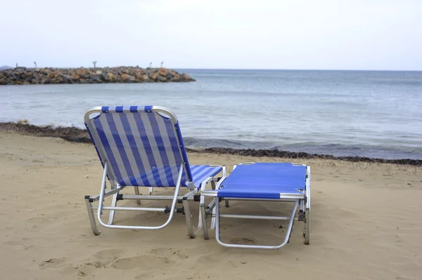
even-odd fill
[(18, 67), (0, 71), (0, 85), (102, 84), (195, 81), (188, 74), (166, 68), (40, 68)]

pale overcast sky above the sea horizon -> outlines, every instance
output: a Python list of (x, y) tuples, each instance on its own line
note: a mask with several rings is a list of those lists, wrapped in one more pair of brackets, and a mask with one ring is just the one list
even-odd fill
[(422, 70), (422, 0), (0, 0), (0, 66)]

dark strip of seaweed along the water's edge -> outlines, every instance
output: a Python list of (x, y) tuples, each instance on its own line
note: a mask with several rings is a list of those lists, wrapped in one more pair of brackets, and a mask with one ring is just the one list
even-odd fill
[[(0, 131), (19, 133), (22, 135), (32, 135), (38, 137), (61, 138), (69, 142), (91, 143), (88, 132), (75, 127), (53, 127), (34, 126), (32, 124), (22, 124), (14, 122), (0, 123)], [(409, 166), (422, 166), (422, 159), (378, 159), (364, 156), (333, 156), (330, 154), (309, 154), (307, 152), (288, 152), (276, 149), (233, 149), (226, 147), (210, 147), (204, 149), (186, 148), (187, 152), (197, 154), (227, 154), (236, 156), (255, 156), (288, 159), (330, 159), (351, 162), (371, 162), (381, 164), (398, 164)]]

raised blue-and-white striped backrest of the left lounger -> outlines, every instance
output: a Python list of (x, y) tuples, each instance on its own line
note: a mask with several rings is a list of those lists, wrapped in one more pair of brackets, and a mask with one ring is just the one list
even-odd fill
[(121, 186), (174, 187), (184, 165), (181, 184), (188, 181), (193, 187), (179, 121), (169, 109), (95, 107), (85, 114), (85, 126), (101, 164), (108, 163), (110, 181)]

